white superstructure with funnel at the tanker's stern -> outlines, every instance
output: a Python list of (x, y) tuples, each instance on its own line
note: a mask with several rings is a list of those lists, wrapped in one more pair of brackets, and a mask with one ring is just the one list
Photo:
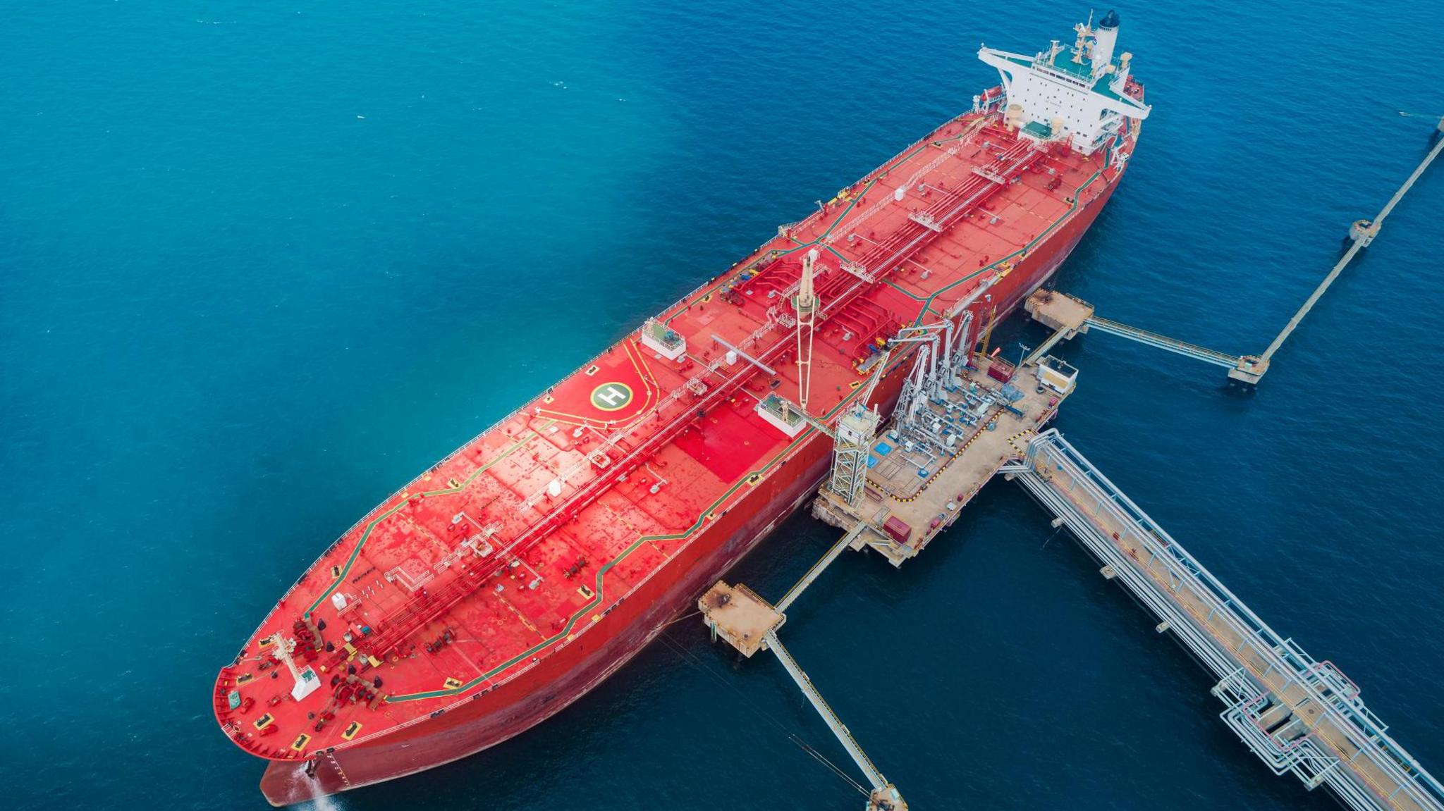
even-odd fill
[[(978, 58), (1002, 74), (1005, 120), (1034, 140), (1067, 139), (1073, 149), (1092, 153), (1118, 131), (1123, 118), (1147, 118), (1142, 89), (1128, 78), (1132, 53), (1116, 59), (1118, 14), (1109, 12), (1097, 27), (1073, 29), (1073, 48), (1053, 40), (1034, 56), (992, 48)], [(978, 98), (973, 100), (978, 104)]]

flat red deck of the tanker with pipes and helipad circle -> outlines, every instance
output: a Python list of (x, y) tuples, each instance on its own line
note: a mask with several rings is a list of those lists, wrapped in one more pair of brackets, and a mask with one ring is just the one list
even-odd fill
[[(299, 760), (403, 726), (416, 733), (442, 710), (547, 672), (534, 668), (606, 628), (604, 615), (645, 580), (680, 577), (667, 563), (749, 488), (801, 475), (784, 466), (813, 429), (790, 439), (754, 407), (768, 391), (797, 401), (787, 294), (806, 250), (820, 248), (823, 271), (809, 410), (826, 420), (898, 328), (936, 320), (999, 274), (1001, 317), (1041, 283), (1132, 146), (1125, 130), (1115, 152), (1090, 157), (1040, 149), (996, 113), (943, 124), (661, 313), (686, 355), (664, 359), (632, 333), (348, 530), (221, 670), (222, 729), (253, 755)], [(973, 304), (976, 323), (989, 307)], [(777, 374), (726, 365), (713, 335)], [(300, 636), (296, 664), (321, 680), (300, 701), (274, 646), (261, 646), (276, 632)], [(530, 678), (527, 690), (547, 688)]]

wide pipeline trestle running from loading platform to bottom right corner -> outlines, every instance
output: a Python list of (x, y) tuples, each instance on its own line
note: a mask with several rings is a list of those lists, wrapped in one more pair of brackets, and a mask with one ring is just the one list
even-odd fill
[(1444, 811), (1444, 786), (1365, 706), (1359, 687), (1258, 618), (1057, 429), (1004, 466), (1209, 670), (1220, 719), (1274, 773), (1349, 808)]

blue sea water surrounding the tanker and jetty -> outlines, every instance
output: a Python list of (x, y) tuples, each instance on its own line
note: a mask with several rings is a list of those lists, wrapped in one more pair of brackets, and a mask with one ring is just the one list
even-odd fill
[[(212, 678), (325, 545), (969, 107), (996, 84), (979, 42), (1031, 53), (1087, 12), (9, 3), (0, 805), (263, 808)], [(1154, 113), (1057, 286), (1258, 352), (1427, 150), (1444, 6), (1119, 13)], [(1441, 209), (1437, 166), (1255, 395), (1089, 335), (1057, 421), (1435, 775)], [(731, 579), (775, 597), (833, 538), (794, 517)], [(1331, 807), (1235, 739), (1154, 622), (993, 482), (905, 569), (839, 560), (783, 635), (918, 810)], [(323, 805), (859, 808), (790, 736), (852, 772), (775, 661), (693, 619), (524, 736)]]

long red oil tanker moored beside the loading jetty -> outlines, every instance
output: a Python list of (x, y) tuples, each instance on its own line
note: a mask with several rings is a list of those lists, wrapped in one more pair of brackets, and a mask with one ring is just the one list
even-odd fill
[(351, 527), (215, 681), (276, 805), (400, 778), (557, 713), (797, 508), (823, 430), (887, 414), (900, 329), (959, 348), (1047, 280), (1149, 108), (1118, 16), (1002, 84)]

